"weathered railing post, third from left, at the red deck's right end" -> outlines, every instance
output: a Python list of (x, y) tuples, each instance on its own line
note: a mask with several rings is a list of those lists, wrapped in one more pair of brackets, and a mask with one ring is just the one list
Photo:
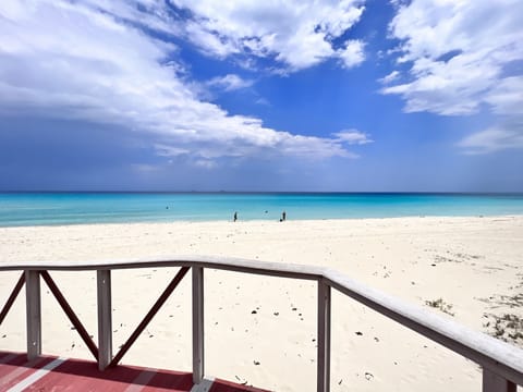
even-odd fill
[(204, 268), (193, 267), (193, 383), (204, 379)]

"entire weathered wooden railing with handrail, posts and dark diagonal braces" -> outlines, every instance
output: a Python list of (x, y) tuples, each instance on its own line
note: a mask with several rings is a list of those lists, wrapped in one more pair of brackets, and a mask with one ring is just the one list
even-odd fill
[[(111, 270), (134, 268), (180, 267), (173, 282), (166, 289), (157, 303), (132, 334), (125, 350), (112, 356), (111, 334)], [(483, 367), (484, 392), (515, 392), (516, 384), (523, 385), (523, 350), (501, 342), (487, 334), (471, 330), (451, 320), (445, 319), (419, 306), (405, 304), (390, 295), (358, 283), (335, 270), (314, 266), (290, 265), (279, 262), (254, 261), (227, 257), (182, 257), (169, 259), (134, 259), (101, 261), (46, 261), (46, 262), (3, 262), (0, 271), (22, 270), (25, 278), (19, 280), (9, 296), (1, 315), (5, 317), (14, 297), (22, 285), (26, 284), (27, 314), (27, 355), (35, 357), (41, 353), (41, 316), (39, 277), (52, 282), (47, 271), (97, 271), (98, 303), (98, 351), (89, 344), (89, 350), (97, 354), (99, 368), (114, 366), (121, 359), (139, 332), (150, 321), (159, 307), (172, 293), (187, 269), (192, 269), (193, 301), (193, 379), (195, 384), (204, 378), (204, 270), (216, 269), (253, 274), (271, 275), (316, 281), (318, 284), (318, 365), (317, 391), (330, 390), (330, 308), (331, 289), (348, 295), (377, 313), (421, 333), (422, 335), (450, 348)], [(53, 284), (53, 283), (51, 283)], [(57, 299), (73, 319), (74, 313), (58, 287), (53, 286)], [(0, 320), (1, 323), (2, 320)], [(76, 319), (76, 322), (80, 320)], [(81, 328), (82, 330), (82, 328)], [(86, 334), (85, 331), (83, 331)]]

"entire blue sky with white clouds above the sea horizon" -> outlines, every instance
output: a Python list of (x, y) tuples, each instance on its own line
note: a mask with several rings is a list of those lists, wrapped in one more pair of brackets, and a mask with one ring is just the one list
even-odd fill
[(0, 191), (523, 192), (521, 0), (1, 0)]

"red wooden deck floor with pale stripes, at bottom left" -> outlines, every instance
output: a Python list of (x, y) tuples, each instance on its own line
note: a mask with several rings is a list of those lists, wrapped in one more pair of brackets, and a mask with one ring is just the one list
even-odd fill
[(111, 391), (111, 392), (263, 392), (264, 390), (215, 379), (193, 385), (193, 375), (172, 370), (117, 366), (98, 370), (92, 360), (0, 351), (0, 391)]

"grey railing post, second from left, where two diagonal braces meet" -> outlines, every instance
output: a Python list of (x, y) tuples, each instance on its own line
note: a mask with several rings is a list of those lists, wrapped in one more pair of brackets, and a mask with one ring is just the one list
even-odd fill
[(97, 270), (98, 369), (112, 360), (111, 270)]

